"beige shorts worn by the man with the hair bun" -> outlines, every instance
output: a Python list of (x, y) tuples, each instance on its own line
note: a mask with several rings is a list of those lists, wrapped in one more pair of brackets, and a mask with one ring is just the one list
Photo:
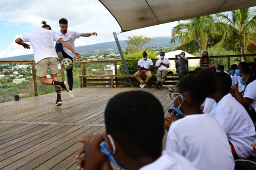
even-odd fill
[(36, 64), (36, 70), (38, 73), (38, 77), (45, 77), (47, 75), (47, 70), (50, 70), (50, 73), (57, 74), (58, 73), (58, 63), (57, 58), (44, 58)]

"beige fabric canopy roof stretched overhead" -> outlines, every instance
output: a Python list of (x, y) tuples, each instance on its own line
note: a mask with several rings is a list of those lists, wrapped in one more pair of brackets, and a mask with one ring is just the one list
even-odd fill
[(256, 6), (256, 0), (99, 0), (122, 32)]

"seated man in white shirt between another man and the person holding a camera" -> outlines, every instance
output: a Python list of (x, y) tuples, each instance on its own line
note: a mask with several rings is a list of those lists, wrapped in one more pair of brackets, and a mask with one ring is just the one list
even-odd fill
[(160, 89), (160, 87), (163, 86), (163, 82), (168, 74), (168, 68), (170, 67), (169, 59), (164, 56), (164, 52), (160, 52), (160, 59), (156, 62), (157, 82), (155, 82), (155, 85), (157, 86), (157, 89)]

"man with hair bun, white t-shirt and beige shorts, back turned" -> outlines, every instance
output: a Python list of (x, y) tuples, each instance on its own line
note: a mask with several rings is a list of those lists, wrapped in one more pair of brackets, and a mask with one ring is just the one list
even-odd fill
[[(42, 21), (42, 28), (36, 29), (35, 31), (29, 32), (26, 35), (17, 38), (15, 42), (22, 45), (25, 49), (30, 49), (30, 45), (24, 42), (30, 42), (33, 48), (34, 60), (37, 64), (36, 69), (38, 73), (39, 80), (43, 84), (54, 85), (57, 93), (57, 100), (55, 106), (61, 106), (61, 88), (60, 86), (68, 92), (67, 81), (58, 81), (58, 63), (57, 54), (54, 48), (55, 42), (60, 42), (65, 47), (70, 49), (77, 58), (81, 58), (80, 54), (76, 52), (68, 43), (66, 43), (57, 34), (57, 32), (52, 31), (51, 27), (46, 24), (46, 21)], [(47, 69), (49, 68), (52, 78), (47, 78)]]

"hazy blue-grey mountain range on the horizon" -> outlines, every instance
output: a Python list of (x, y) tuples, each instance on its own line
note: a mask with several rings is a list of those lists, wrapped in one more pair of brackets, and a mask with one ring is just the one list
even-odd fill
[[(164, 47), (174, 47), (178, 46), (180, 43), (170, 44), (171, 37), (153, 37), (153, 40), (150, 44), (146, 44), (145, 46), (151, 46), (155, 47), (155, 49), (164, 48)], [(127, 46), (125, 43), (126, 40), (120, 40), (120, 46), (122, 50), (124, 50)], [(93, 54), (95, 51), (105, 51), (104, 53), (107, 53), (107, 51), (110, 52), (112, 50), (113, 52), (118, 51), (116, 41), (111, 42), (105, 42), (105, 43), (96, 43), (93, 45), (87, 45), (87, 46), (77, 46), (76, 51), (80, 53), (87, 53), (87, 54)], [(19, 55), (14, 57), (8, 57), (8, 58), (0, 58), (1, 61), (22, 61), (22, 60), (34, 60), (34, 55)]]

